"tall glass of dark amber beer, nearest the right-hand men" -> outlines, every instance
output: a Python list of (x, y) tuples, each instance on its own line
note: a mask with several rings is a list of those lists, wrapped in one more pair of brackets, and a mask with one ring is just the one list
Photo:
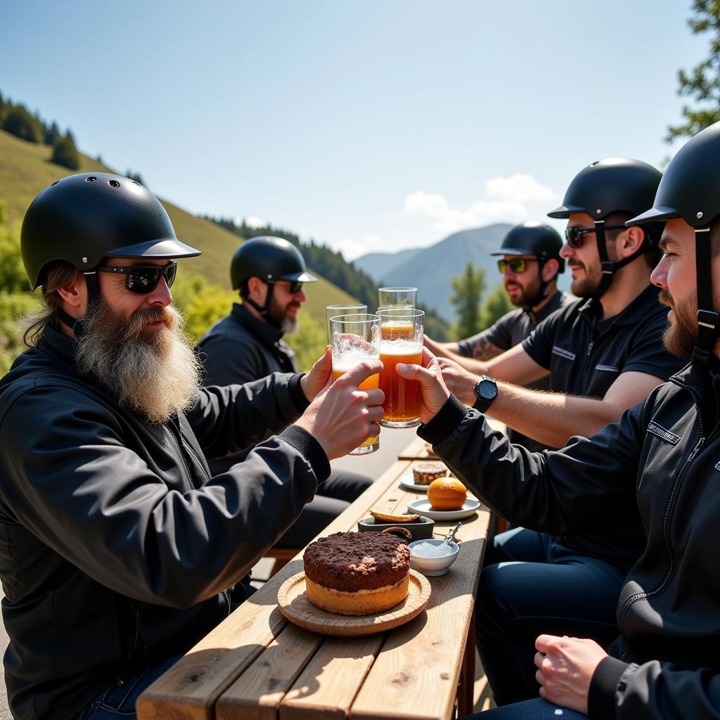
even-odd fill
[(425, 313), (413, 307), (378, 310), (380, 318), (380, 390), (385, 393), (382, 407), (385, 428), (414, 428), (420, 425), (420, 382), (406, 380), (395, 372), (402, 362), (423, 363), (423, 324)]

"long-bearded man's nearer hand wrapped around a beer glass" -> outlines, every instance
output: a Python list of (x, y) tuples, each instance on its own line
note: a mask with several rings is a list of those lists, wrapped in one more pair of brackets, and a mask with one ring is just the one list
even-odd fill
[(381, 405), (385, 399), (384, 392), (377, 389), (359, 390), (358, 385), (380, 370), (382, 362), (366, 360), (338, 377), (335, 382), (330, 374), (323, 390), (296, 420), (297, 426), (307, 430), (323, 446), (328, 459), (342, 457), (363, 444), (367, 438), (379, 435), (380, 426), (377, 423), (383, 415)]

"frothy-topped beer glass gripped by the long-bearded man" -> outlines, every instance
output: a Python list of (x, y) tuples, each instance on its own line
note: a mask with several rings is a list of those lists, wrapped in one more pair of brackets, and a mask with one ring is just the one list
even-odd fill
[[(377, 315), (356, 313), (330, 318), (332, 334), (330, 348), (333, 351), (333, 382), (341, 375), (368, 359), (380, 356), (380, 318)], [(370, 390), (379, 385), (379, 375), (374, 374), (359, 384), (360, 390)], [(376, 451), (380, 438), (367, 438), (351, 455), (366, 455)]]

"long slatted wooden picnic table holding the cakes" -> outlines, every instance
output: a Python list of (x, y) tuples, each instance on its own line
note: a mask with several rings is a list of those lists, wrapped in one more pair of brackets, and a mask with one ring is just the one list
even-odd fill
[[(354, 531), (369, 510), (404, 513), (423, 497), (399, 480), (398, 460), (323, 531)], [(145, 690), (140, 720), (384, 718), (449, 720), (472, 711), (474, 595), (490, 513), (462, 520), (449, 572), (428, 577), (425, 611), (389, 631), (333, 637), (302, 629), (277, 607), (282, 583), (302, 571), (302, 551)], [(456, 521), (438, 522), (436, 536)]]

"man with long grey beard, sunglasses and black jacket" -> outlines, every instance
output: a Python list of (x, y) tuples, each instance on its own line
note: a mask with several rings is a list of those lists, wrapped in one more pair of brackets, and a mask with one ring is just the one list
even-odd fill
[[(20, 720), (135, 717), (135, 698), (248, 594), (248, 570), (372, 434), (366, 364), (200, 387), (170, 302), (181, 243), (158, 200), (73, 175), (22, 225), (45, 309), (0, 380), (4, 657)], [(292, 424), (291, 424), (292, 423)], [(274, 434), (278, 433), (278, 434)], [(256, 444), (211, 476), (204, 457)], [(264, 512), (267, 506), (272, 513)]]

